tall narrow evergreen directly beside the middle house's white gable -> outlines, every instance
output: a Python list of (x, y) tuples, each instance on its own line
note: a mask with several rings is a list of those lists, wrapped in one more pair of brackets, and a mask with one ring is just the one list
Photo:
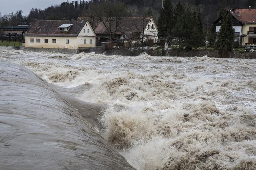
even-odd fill
[(157, 23), (159, 36), (170, 39), (173, 28), (173, 6), (170, 0), (164, 0)]

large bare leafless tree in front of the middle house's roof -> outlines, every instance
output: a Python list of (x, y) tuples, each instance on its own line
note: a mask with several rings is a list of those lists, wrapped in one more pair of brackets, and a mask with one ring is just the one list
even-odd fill
[(122, 20), (128, 12), (123, 3), (103, 2), (97, 10), (97, 14), (113, 40), (116, 33), (124, 27), (125, 23)]

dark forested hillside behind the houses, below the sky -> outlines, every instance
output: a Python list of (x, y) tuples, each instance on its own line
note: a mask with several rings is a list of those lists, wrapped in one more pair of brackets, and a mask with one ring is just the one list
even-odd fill
[[(64, 0), (63, 0), (64, 1)], [(1, 25), (29, 24), (35, 19), (77, 19), (77, 17), (96, 17), (97, 6), (102, 0), (64, 1), (60, 5), (49, 6), (46, 9), (31, 9), (28, 16), (22, 16), (22, 9), (16, 13), (6, 14), (1, 17)], [(109, 0), (124, 3), (128, 16), (147, 15), (158, 19), (162, 7), (162, 0)], [(256, 0), (172, 0), (183, 4), (186, 8), (201, 13), (204, 29), (208, 30), (212, 22), (217, 19), (222, 7), (227, 9), (256, 7)]]

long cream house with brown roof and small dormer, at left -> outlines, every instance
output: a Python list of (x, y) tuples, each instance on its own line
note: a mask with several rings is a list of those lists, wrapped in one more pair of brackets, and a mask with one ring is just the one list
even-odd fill
[(35, 20), (26, 32), (26, 48), (95, 48), (96, 34), (87, 20)]

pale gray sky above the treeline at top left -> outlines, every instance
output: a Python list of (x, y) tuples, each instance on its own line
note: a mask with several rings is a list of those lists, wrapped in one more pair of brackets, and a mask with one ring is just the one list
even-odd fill
[[(28, 15), (32, 8), (45, 9), (48, 6), (60, 4), (67, 0), (0, 0), (1, 14), (8, 14), (22, 10), (23, 15)], [(72, 0), (69, 0), (70, 2)]]

